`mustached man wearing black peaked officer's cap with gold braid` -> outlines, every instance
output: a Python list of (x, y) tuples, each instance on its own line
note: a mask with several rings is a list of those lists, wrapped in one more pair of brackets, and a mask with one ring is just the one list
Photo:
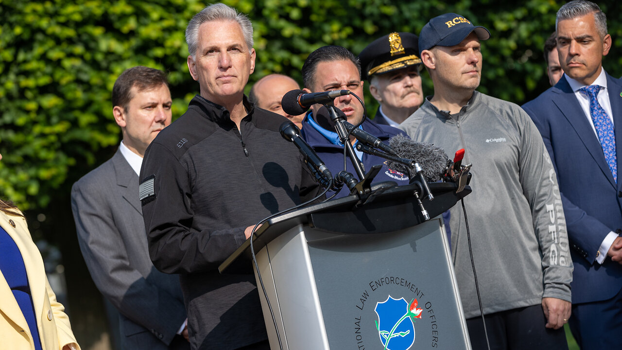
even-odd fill
[(397, 126), (424, 101), (417, 35), (392, 32), (367, 45), (358, 56), (361, 76), (380, 103), (374, 116), (378, 124)]

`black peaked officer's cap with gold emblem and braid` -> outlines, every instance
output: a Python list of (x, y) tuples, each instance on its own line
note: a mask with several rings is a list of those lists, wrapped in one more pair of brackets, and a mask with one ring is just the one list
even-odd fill
[(371, 42), (361, 51), (361, 78), (389, 73), (411, 65), (421, 64), (419, 40), (409, 32), (392, 32)]

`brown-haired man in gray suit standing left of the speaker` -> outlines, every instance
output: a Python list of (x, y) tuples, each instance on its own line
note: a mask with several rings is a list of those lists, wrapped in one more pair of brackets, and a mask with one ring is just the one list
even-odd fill
[(72, 188), (80, 250), (97, 288), (119, 310), (123, 349), (189, 349), (179, 278), (151, 263), (138, 196), (145, 149), (171, 120), (167, 78), (133, 67), (119, 75), (112, 98), (123, 141)]

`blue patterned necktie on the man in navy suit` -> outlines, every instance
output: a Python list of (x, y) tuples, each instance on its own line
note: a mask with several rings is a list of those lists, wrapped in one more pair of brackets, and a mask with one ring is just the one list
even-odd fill
[(594, 122), (596, 133), (598, 134), (598, 140), (600, 140), (600, 145), (603, 148), (603, 153), (605, 153), (605, 160), (607, 161), (607, 164), (609, 164), (609, 169), (611, 169), (613, 179), (616, 183), (618, 183), (618, 170), (616, 167), (616, 137), (615, 133), (613, 133), (613, 123), (611, 123), (607, 112), (603, 109), (600, 103), (598, 103), (598, 98), (596, 98), (600, 88), (600, 85), (590, 85), (588, 87), (580, 88), (579, 91), (587, 95), (590, 99), (590, 115), (592, 115), (592, 121)]

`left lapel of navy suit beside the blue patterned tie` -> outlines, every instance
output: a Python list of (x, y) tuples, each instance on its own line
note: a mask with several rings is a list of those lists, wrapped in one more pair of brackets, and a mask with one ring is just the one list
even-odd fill
[[(603, 154), (603, 148), (600, 145), (600, 141), (598, 141), (598, 137), (594, 133), (594, 130), (592, 130), (592, 126), (587, 120), (588, 116), (583, 113), (583, 109), (577, 101), (577, 97), (575, 97), (572, 88), (570, 88), (565, 75), (560, 79), (559, 83), (555, 85), (553, 92), (557, 93), (557, 95), (554, 95), (553, 97), (553, 102), (557, 108), (562, 111), (562, 114), (568, 120), (570, 125), (572, 125), (572, 128), (575, 130), (588, 152), (592, 154), (592, 158), (596, 164), (598, 164), (598, 168), (600, 168), (603, 174), (605, 174), (611, 183), (611, 186), (616, 187), (616, 182), (614, 181), (611, 169), (609, 169), (609, 165), (605, 160), (605, 155)], [(618, 148), (618, 146), (616, 146), (616, 148)], [(572, 154), (569, 154), (568, 156), (572, 157)]]

